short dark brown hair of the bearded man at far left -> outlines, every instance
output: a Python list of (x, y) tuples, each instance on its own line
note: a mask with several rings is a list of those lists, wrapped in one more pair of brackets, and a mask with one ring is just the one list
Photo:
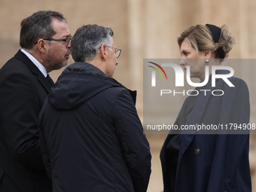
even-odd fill
[(67, 22), (65, 17), (56, 11), (38, 11), (22, 20), (20, 47), (32, 49), (38, 39), (52, 38), (56, 34), (51, 25), (52, 18)]

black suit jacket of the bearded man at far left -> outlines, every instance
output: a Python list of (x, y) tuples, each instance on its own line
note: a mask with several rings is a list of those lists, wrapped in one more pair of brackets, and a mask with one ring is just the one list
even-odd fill
[(0, 191), (47, 192), (38, 114), (51, 84), (20, 50), (0, 70)]

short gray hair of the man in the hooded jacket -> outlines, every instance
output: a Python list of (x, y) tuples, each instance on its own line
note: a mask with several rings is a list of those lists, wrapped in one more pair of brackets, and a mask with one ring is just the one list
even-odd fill
[(89, 62), (102, 44), (111, 46), (114, 32), (97, 25), (81, 26), (72, 37), (71, 53), (75, 62)]

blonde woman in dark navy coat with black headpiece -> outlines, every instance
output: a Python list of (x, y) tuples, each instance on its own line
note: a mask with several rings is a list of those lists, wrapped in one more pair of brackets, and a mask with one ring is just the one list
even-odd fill
[[(223, 90), (224, 94), (214, 96), (197, 91), (196, 96), (188, 96), (176, 125), (249, 123), (245, 82), (231, 77), (228, 80), (234, 87), (230, 87), (223, 79), (216, 78), (214, 87), (211, 72), (206, 73), (206, 66), (221, 65), (233, 43), (227, 26), (191, 26), (178, 36), (181, 67), (190, 72), (190, 78), (199, 78), (202, 83), (203, 87), (196, 90)], [(225, 74), (225, 70), (218, 71), (218, 75)], [(164, 192), (251, 191), (248, 134), (184, 133), (170, 132), (163, 144), (160, 159)]]

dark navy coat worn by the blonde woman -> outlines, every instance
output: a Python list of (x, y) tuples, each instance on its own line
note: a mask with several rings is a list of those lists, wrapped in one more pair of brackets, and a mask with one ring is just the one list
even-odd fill
[[(220, 72), (224, 73), (225, 71)], [(248, 130), (237, 129), (230, 132), (230, 126), (225, 130), (225, 125), (229, 123), (249, 125), (248, 87), (239, 78), (229, 80), (235, 87), (227, 86), (221, 79), (217, 79), (216, 87), (212, 87), (209, 81), (204, 90), (224, 90), (224, 95), (212, 96), (210, 91), (206, 96), (201, 93), (187, 119), (186, 125), (220, 125), (224, 130), (216, 131), (219, 134), (209, 135), (199, 134), (197, 130), (190, 131), (190, 134), (181, 134), (175, 192), (251, 191)], [(180, 114), (175, 123), (178, 122)], [(166, 151), (170, 138), (171, 135), (167, 136), (160, 153), (165, 192), (172, 191), (171, 188), (174, 187), (170, 183), (174, 169), (170, 165), (172, 154)]]

